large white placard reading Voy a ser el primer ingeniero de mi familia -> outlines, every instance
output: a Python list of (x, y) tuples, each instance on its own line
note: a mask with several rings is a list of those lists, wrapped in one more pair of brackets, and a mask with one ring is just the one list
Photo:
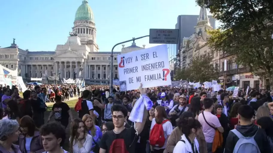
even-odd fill
[(166, 44), (118, 55), (121, 91), (171, 84)]

